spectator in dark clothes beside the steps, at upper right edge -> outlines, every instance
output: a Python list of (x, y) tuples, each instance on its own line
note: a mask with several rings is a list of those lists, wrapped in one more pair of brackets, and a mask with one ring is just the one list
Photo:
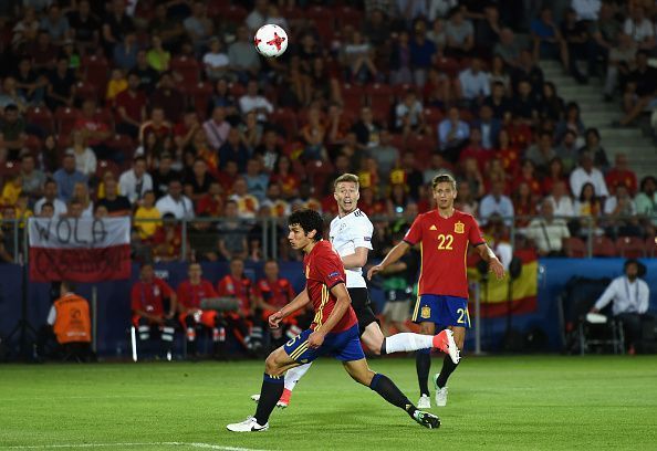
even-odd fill
[(614, 125), (625, 127), (632, 124), (657, 95), (657, 69), (648, 65), (648, 52), (636, 54), (636, 69), (629, 74), (629, 83), (623, 95), (625, 116)]

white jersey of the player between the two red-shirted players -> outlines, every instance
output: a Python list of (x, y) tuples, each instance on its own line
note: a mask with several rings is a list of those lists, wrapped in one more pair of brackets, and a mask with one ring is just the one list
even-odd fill
[[(367, 214), (355, 209), (344, 218), (336, 217), (331, 221), (328, 235), (335, 251), (340, 256), (345, 256), (356, 253), (356, 248), (372, 250), (373, 233), (374, 226), (369, 222)], [(345, 269), (345, 273), (347, 289), (367, 287), (362, 268)]]

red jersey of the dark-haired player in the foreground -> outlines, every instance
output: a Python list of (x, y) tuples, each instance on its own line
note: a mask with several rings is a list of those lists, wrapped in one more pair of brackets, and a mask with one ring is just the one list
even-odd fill
[[(316, 331), (328, 319), (335, 307), (337, 300), (331, 293), (331, 289), (338, 283), (345, 283), (346, 275), (340, 255), (333, 245), (324, 240), (319, 241), (313, 250), (304, 256), (303, 268), (305, 268), (305, 289), (315, 311), (311, 328)], [(356, 314), (350, 305), (335, 327), (326, 332), (343, 332), (355, 324), (357, 324)]]

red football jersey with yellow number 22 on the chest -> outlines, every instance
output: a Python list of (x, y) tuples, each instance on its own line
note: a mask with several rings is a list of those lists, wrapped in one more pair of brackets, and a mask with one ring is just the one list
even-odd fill
[(458, 210), (450, 218), (442, 218), (438, 210), (418, 214), (404, 241), (421, 245), (418, 294), (468, 298), (468, 243), (486, 242), (471, 214)]

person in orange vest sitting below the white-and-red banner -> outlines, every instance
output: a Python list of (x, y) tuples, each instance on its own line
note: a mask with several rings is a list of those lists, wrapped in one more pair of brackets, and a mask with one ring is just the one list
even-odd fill
[(77, 361), (93, 358), (88, 302), (74, 292), (73, 282), (60, 283), (59, 297), (50, 307), (46, 324), (39, 329), (36, 337), (39, 361), (44, 361), (46, 357), (75, 357)]

